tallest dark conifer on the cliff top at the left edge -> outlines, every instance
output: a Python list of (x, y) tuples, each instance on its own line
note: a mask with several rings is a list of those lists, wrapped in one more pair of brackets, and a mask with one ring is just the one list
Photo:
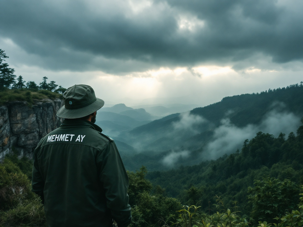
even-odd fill
[(15, 83), (16, 77), (15, 70), (9, 68), (7, 63), (3, 63), (5, 58), (8, 58), (8, 56), (0, 49), (0, 90), (3, 90), (4, 87), (11, 87)]

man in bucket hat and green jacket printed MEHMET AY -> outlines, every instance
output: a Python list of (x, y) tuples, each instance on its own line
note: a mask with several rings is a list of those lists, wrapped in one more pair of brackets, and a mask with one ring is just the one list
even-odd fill
[(128, 176), (115, 142), (95, 125), (104, 101), (92, 87), (75, 85), (63, 94), (61, 126), (34, 151), (32, 191), (44, 204), (47, 226), (118, 227), (130, 224)]

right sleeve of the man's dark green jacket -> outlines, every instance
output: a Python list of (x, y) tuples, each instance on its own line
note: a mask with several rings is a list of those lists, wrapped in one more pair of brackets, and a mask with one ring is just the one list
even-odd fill
[(128, 204), (128, 176), (115, 142), (109, 141), (96, 157), (99, 179), (103, 183), (107, 207), (118, 227), (132, 221), (131, 207)]

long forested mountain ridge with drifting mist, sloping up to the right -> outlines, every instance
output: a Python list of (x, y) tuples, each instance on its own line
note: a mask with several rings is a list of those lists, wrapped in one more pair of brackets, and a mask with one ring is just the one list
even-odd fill
[[(241, 148), (245, 139), (251, 139), (258, 131), (268, 131), (275, 136), (280, 132), (294, 131), (303, 116), (301, 100), (302, 84), (269, 89), (260, 94), (224, 97), (206, 107), (171, 114), (136, 127), (118, 139), (143, 153), (165, 151), (181, 155), (187, 150), (189, 156), (175, 162), (176, 166), (186, 166), (191, 159), (199, 163), (233, 153)], [(191, 155), (194, 153), (200, 156), (194, 158)], [(153, 160), (154, 163), (162, 161)], [(142, 164), (155, 170), (151, 160)]]

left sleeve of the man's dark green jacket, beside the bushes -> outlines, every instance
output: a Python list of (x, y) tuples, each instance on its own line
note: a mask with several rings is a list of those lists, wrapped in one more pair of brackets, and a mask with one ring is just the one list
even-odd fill
[(37, 148), (34, 151), (34, 164), (32, 173), (32, 191), (35, 192), (42, 199), (42, 204), (44, 205), (44, 180), (39, 170), (39, 163), (37, 159)]

